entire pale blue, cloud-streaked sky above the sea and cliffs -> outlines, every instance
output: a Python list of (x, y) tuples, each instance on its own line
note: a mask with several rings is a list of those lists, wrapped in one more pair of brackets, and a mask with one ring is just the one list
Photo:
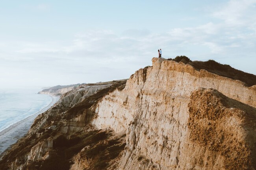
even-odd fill
[(0, 88), (128, 79), (163, 58), (256, 75), (256, 0), (0, 2)]

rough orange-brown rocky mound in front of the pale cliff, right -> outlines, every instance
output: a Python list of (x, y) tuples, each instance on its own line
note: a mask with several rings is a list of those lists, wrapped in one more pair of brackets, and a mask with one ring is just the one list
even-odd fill
[[(201, 159), (201, 169), (256, 168), (255, 108), (212, 89), (194, 91), (188, 106), (188, 143), (201, 150), (186, 148)], [(193, 159), (190, 163), (196, 164)]]

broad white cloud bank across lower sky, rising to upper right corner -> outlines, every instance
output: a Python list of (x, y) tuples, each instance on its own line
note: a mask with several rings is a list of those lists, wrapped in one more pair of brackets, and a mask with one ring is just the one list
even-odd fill
[(124, 79), (151, 65), (160, 48), (164, 58), (186, 55), (191, 60), (214, 59), (256, 74), (254, 4), (255, 0), (231, 0), (212, 11), (205, 23), (163, 33), (89, 30), (62, 41), (0, 40), (0, 72), (13, 76), (7, 81), (8, 77), (0, 75), (0, 79), (11, 82), (19, 75), (25, 83), (36, 77), (37, 84), (48, 82), (44, 86)]

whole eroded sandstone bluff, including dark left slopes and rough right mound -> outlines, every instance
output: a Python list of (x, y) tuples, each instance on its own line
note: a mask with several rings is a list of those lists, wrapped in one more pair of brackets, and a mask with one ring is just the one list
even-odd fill
[(153, 58), (39, 115), (1, 170), (256, 169), (256, 85)]

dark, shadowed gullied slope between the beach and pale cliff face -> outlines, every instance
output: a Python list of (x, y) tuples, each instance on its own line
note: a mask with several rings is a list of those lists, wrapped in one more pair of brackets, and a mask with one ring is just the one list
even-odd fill
[[(71, 159), (74, 154), (78, 153), (78, 148), (81, 150), (89, 146), (91, 150), (94, 150), (92, 146), (104, 140), (109, 140), (104, 145), (110, 148), (109, 153), (113, 152), (112, 147), (118, 148), (115, 156), (107, 160), (118, 157), (124, 148), (124, 133), (119, 136), (114, 135), (114, 138), (108, 130), (99, 132), (90, 124), (93, 113), (89, 108), (109, 91), (117, 88), (123, 89), (125, 83), (126, 80), (118, 80), (89, 86), (81, 85), (62, 95), (52, 108), (35, 119), (28, 134), (7, 151), (7, 154), (0, 160), (0, 169), (67, 169), (70, 166), (67, 159)], [(98, 146), (102, 147), (101, 144)], [(91, 153), (91, 150), (87, 151)], [(99, 160), (95, 155), (93, 158)], [(58, 163), (54, 163), (56, 161)], [(107, 164), (102, 162), (102, 165), (98, 166), (103, 165)]]

